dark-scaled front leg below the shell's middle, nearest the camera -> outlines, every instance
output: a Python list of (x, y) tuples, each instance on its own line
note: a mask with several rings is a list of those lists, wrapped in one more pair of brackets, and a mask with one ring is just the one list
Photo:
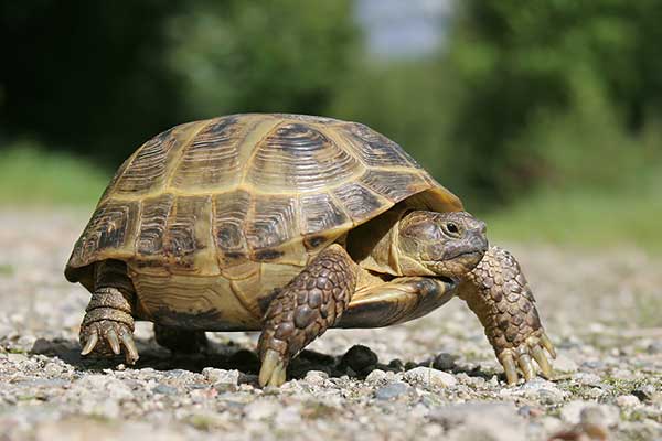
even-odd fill
[(352, 299), (356, 272), (346, 251), (332, 245), (276, 295), (258, 342), (260, 386), (284, 384), (290, 359), (338, 321)]

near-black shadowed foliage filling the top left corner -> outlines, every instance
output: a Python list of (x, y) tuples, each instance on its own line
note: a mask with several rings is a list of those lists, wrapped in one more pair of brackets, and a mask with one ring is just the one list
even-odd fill
[(181, 1), (0, 0), (0, 135), (113, 159), (179, 120), (160, 26)]

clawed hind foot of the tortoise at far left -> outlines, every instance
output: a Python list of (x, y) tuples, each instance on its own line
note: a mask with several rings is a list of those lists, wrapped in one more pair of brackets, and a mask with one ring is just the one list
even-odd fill
[(132, 365), (138, 361), (134, 332), (126, 323), (102, 320), (84, 324), (79, 337), (83, 346), (81, 355), (113, 357), (119, 355), (124, 346), (127, 364)]

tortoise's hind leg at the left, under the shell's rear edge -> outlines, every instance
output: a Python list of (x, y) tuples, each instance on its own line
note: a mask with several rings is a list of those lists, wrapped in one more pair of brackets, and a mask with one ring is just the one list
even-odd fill
[(95, 291), (81, 325), (81, 355), (92, 353), (111, 357), (119, 355), (124, 345), (127, 363), (132, 365), (138, 361), (129, 301), (134, 297), (134, 284), (127, 276), (125, 263), (116, 260), (96, 263)]

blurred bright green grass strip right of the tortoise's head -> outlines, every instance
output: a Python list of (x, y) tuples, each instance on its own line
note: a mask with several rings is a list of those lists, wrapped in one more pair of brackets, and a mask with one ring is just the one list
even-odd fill
[(605, 191), (543, 191), (487, 216), (490, 237), (662, 252), (662, 174)]

